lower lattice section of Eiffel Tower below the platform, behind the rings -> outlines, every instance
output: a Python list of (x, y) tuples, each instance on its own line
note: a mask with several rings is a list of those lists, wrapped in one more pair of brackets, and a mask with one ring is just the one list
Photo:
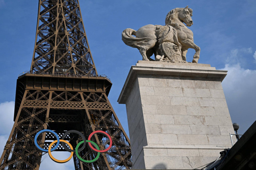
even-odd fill
[[(36, 133), (42, 129), (54, 130), (59, 137), (62, 137), (63, 131), (71, 129), (82, 132), (87, 138), (97, 130), (110, 134), (112, 148), (93, 164), (81, 163), (74, 157), (76, 169), (128, 169), (132, 166), (130, 141), (105, 93), (25, 90), (13, 130), (1, 157), (0, 169), (39, 168), (42, 153), (33, 141)], [(50, 133), (39, 135), (38, 143), (42, 148), (48, 149), (50, 145), (44, 141), (55, 140), (53, 137), (49, 139), (49, 135)], [(97, 135), (92, 140), (102, 150), (107, 148), (109, 142), (103, 135)], [(70, 143), (80, 141), (82, 139), (77, 137)], [(57, 151), (64, 150), (58, 147)], [(84, 159), (93, 159), (95, 153), (86, 149), (81, 155)]]

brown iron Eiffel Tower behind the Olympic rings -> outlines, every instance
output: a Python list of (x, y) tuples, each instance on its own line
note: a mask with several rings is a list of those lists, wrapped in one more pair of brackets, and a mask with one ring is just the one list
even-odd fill
[[(42, 151), (34, 137), (43, 129), (55, 131), (60, 138), (65, 131), (77, 130), (86, 139), (93, 131), (105, 131), (112, 138), (111, 149), (93, 163), (82, 162), (74, 154), (74, 169), (130, 169), (130, 141), (108, 100), (111, 86), (106, 76), (97, 74), (78, 0), (39, 0), (32, 64), (30, 72), (17, 79), (14, 126), (0, 169), (38, 170)], [(48, 132), (37, 138), (44, 149), (54, 140)], [(75, 147), (82, 138), (72, 133), (65, 140)], [(109, 145), (104, 135), (91, 140), (101, 150)], [(56, 151), (65, 150), (59, 145)], [(86, 145), (79, 154), (92, 160), (97, 152)]]

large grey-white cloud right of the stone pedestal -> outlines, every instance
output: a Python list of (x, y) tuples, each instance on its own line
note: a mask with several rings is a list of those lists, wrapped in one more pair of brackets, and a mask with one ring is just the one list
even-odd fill
[(244, 133), (256, 120), (256, 70), (244, 69), (240, 64), (226, 64), (221, 70), (228, 70), (222, 86), (232, 122), (238, 123), (238, 132)]

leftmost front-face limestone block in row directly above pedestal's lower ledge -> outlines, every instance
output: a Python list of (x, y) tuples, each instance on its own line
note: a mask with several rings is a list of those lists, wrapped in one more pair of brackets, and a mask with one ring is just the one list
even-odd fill
[(152, 144), (178, 144), (175, 134), (146, 134), (148, 145)]

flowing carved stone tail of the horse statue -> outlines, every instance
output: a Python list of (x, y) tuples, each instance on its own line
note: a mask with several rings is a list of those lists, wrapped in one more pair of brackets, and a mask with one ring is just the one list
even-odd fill
[(122, 40), (126, 45), (130, 47), (143, 49), (146, 45), (150, 44), (151, 38), (144, 37), (144, 38), (137, 38), (132, 35), (136, 35), (136, 31), (134, 29), (127, 28), (122, 32)]

